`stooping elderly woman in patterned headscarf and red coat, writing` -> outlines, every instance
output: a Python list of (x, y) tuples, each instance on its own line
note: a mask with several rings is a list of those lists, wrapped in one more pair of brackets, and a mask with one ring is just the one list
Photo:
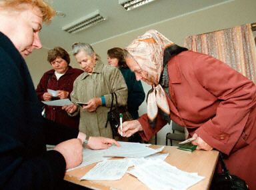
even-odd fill
[(255, 84), (218, 59), (179, 47), (155, 30), (135, 39), (126, 51), (128, 67), (152, 89), (147, 114), (123, 123), (123, 136), (139, 131), (147, 141), (172, 120), (187, 128), (197, 149), (224, 153), (230, 173), (256, 189)]

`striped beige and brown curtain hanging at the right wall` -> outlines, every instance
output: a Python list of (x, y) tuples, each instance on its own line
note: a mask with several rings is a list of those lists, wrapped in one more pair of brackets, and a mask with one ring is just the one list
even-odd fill
[(256, 83), (256, 47), (251, 24), (189, 36), (184, 46), (220, 59)]

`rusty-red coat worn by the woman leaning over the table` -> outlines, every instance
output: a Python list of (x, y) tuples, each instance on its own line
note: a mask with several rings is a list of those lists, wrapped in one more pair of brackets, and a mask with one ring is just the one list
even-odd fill
[[(218, 59), (193, 51), (171, 58), (168, 73), (171, 120), (227, 154), (225, 163), (231, 174), (256, 189), (255, 84)], [(166, 124), (160, 115), (154, 129), (147, 114), (138, 120), (145, 140)]]

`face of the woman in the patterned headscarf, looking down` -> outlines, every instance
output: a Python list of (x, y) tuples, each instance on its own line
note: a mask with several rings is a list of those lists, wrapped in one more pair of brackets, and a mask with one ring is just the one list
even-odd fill
[(135, 73), (136, 80), (143, 80), (148, 85), (153, 85), (153, 81), (151, 80), (151, 77), (149, 77), (149, 74), (146, 71), (143, 71), (139, 64), (132, 58), (132, 57), (126, 57), (125, 58), (126, 64)]

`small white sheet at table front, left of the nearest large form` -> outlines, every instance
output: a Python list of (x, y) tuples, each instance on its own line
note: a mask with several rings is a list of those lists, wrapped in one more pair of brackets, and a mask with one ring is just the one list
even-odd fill
[(125, 175), (129, 161), (125, 159), (105, 160), (97, 163), (81, 180), (118, 180)]

